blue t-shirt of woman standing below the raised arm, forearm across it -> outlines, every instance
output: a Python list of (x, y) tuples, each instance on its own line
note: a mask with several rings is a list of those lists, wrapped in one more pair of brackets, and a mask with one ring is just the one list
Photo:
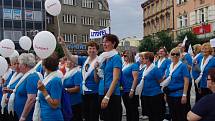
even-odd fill
[[(81, 72), (78, 71), (73, 76), (64, 80), (63, 88), (73, 88), (75, 86), (80, 87), (81, 82), (82, 82)], [(81, 98), (80, 92), (71, 93), (71, 104), (72, 105), (76, 105), (76, 104), (79, 104), (81, 102), (82, 102), (82, 98)]]

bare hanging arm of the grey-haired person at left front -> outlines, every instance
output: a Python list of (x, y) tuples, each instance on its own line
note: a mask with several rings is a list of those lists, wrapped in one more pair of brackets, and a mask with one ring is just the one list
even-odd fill
[(27, 95), (27, 101), (25, 103), (20, 121), (24, 120), (26, 117), (28, 117), (29, 112), (31, 111), (31, 109), (33, 108), (35, 102), (36, 102), (36, 94), (28, 94)]

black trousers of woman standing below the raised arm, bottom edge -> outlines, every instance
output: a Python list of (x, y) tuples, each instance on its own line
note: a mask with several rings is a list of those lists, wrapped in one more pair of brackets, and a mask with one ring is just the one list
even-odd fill
[(72, 106), (72, 113), (73, 113), (73, 117), (71, 121), (83, 121), (81, 103)]

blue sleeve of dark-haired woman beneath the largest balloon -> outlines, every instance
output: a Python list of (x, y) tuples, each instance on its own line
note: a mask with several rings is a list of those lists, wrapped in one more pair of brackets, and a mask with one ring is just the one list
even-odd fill
[(52, 99), (61, 99), (62, 94), (62, 83), (60, 78), (54, 78), (52, 80), (51, 89), (50, 89), (50, 96)]

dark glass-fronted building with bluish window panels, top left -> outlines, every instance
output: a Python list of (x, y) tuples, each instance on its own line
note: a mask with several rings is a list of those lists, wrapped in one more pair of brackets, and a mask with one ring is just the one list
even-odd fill
[(23, 35), (46, 29), (44, 0), (0, 0), (0, 40), (11, 39), (19, 49)]

